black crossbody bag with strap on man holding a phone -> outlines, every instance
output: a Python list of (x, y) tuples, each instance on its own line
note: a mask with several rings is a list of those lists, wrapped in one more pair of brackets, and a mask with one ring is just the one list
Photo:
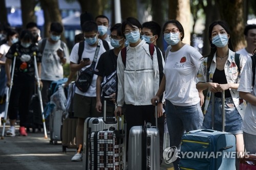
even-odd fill
[(82, 92), (87, 92), (90, 85), (92, 84), (94, 69), (95, 69), (97, 57), (99, 54), (99, 47), (100, 47), (100, 42), (98, 41), (98, 45), (96, 47), (94, 59), (93, 59), (91, 66), (86, 68), (85, 70), (81, 71), (78, 76), (77, 81), (75, 81), (76, 87)]

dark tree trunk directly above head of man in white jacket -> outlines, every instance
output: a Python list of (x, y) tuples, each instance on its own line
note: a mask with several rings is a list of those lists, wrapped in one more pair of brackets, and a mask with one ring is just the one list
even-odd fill
[(132, 16), (137, 18), (137, 2), (136, 0), (121, 1), (122, 20)]

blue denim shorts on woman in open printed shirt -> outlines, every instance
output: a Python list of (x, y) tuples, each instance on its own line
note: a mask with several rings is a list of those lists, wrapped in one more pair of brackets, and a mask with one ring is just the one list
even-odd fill
[[(204, 116), (202, 129), (211, 129), (212, 99), (210, 99)], [(215, 97), (214, 130), (222, 131), (222, 99)], [(240, 116), (232, 98), (225, 98), (225, 132), (241, 134), (243, 119)]]

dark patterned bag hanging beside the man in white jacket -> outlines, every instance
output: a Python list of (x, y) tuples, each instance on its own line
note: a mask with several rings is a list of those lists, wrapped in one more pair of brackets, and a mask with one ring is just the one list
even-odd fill
[(116, 71), (112, 72), (101, 84), (102, 92), (111, 95), (116, 92)]

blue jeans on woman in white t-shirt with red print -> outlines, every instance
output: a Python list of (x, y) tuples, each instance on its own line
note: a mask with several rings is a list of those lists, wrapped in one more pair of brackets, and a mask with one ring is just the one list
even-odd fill
[[(176, 146), (178, 151), (180, 151), (181, 137), (184, 131), (197, 130), (202, 126), (203, 112), (200, 103), (192, 106), (175, 106), (166, 100), (165, 113), (170, 146)], [(178, 169), (178, 163), (179, 159), (173, 162), (175, 169)]]

